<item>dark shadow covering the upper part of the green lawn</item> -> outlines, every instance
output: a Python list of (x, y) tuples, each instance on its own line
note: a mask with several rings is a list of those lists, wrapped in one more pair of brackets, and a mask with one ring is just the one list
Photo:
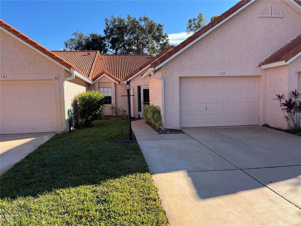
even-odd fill
[(98, 121), (52, 137), (1, 175), (1, 198), (36, 196), (149, 172), (138, 144), (115, 143), (118, 139), (122, 137), (115, 121)]

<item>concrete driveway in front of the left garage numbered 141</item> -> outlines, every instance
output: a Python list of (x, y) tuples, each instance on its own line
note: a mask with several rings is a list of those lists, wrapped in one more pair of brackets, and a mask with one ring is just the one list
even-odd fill
[(0, 137), (0, 174), (24, 159), (55, 133), (10, 134)]

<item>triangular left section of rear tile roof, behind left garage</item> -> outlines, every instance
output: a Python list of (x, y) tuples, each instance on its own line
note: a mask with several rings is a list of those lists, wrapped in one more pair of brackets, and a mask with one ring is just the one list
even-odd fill
[(93, 66), (99, 51), (52, 51), (56, 55), (70, 62), (76, 67), (84, 76), (92, 78)]

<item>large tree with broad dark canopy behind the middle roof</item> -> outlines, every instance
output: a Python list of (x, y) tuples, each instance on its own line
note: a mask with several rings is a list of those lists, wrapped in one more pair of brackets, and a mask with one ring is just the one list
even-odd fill
[(115, 54), (159, 53), (169, 46), (168, 36), (163, 32), (164, 24), (156, 23), (148, 16), (127, 15), (105, 18), (104, 34), (109, 48)]

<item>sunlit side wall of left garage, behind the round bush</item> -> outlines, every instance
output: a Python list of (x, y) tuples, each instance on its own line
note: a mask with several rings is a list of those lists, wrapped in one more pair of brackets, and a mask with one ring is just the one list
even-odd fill
[[(65, 84), (64, 84), (64, 93), (65, 93), (65, 114), (66, 114), (66, 119), (68, 119), (68, 109), (71, 108), (71, 106), (73, 107), (73, 115), (74, 115), (74, 120), (79, 123), (79, 119), (78, 119), (78, 116), (77, 116), (77, 105), (75, 104), (74, 102), (74, 97), (81, 93), (81, 92), (84, 92), (87, 90), (87, 83), (78, 78), (78, 77), (75, 77), (74, 79), (70, 80), (70, 81), (65, 81)], [(67, 125), (67, 128), (69, 128), (69, 121), (66, 120), (66, 125)]]

